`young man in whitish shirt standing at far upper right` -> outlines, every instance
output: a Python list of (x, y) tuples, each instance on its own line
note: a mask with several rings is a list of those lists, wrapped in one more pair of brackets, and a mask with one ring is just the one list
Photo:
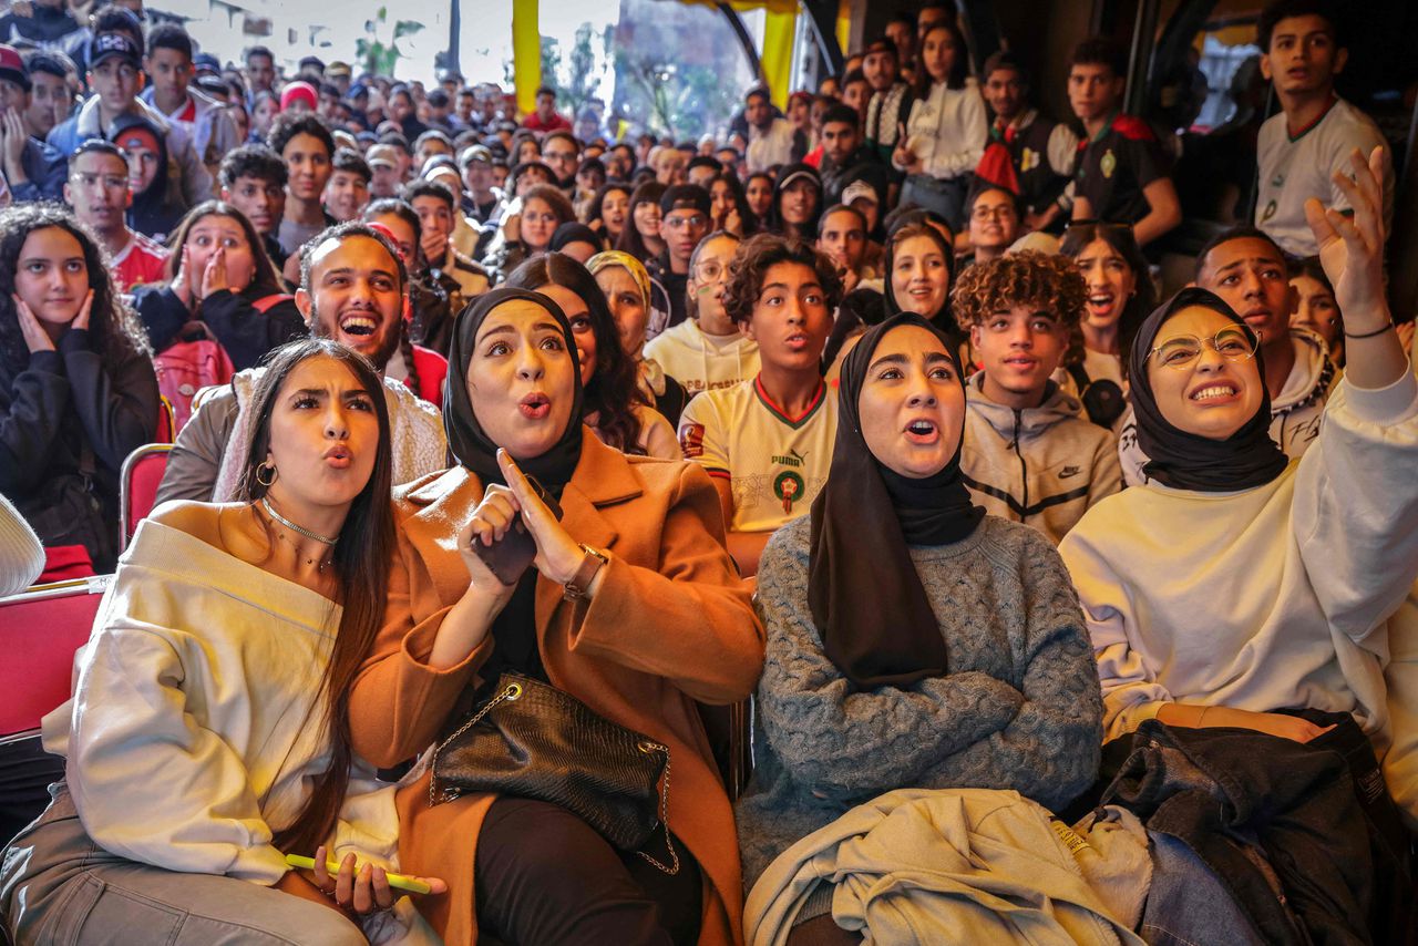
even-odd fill
[(1305, 200), (1346, 210), (1349, 199), (1333, 182), (1334, 172), (1351, 177), (1349, 155), (1384, 149), (1384, 231), (1394, 218), (1392, 150), (1374, 119), (1334, 92), (1349, 50), (1340, 41), (1340, 20), (1323, 0), (1279, 0), (1256, 26), (1261, 74), (1275, 85), (1280, 113), (1261, 126), (1255, 226), (1293, 257), (1319, 252), (1305, 223)]

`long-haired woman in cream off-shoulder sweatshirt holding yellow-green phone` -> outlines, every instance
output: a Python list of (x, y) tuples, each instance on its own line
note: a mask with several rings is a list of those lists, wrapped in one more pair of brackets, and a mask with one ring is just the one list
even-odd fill
[[(397, 850), (394, 789), (347, 718), (394, 547), (383, 386), (335, 342), (292, 342), (252, 410), (244, 502), (167, 503), (139, 526), (74, 698), (44, 719), (67, 777), (0, 868), (18, 943), (406, 935), (374, 867)], [(322, 867), (298, 875), (288, 854)]]

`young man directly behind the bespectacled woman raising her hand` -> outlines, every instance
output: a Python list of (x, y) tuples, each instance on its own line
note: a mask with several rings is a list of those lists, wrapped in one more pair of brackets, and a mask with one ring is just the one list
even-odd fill
[[(1296, 292), (1285, 254), (1255, 227), (1232, 227), (1212, 237), (1197, 255), (1193, 285), (1225, 299), (1261, 336), (1266, 391), (1271, 394), (1271, 440), (1290, 460), (1305, 454), (1320, 433), (1324, 403), (1339, 383), (1324, 340), (1309, 329), (1290, 328)], [(1129, 413), (1119, 454), (1127, 485), (1146, 482), (1147, 455), (1137, 447), (1137, 423)]]

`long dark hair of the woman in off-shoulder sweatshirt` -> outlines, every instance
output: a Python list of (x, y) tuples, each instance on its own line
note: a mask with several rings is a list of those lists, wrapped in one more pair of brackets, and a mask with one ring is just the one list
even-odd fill
[(384, 384), (363, 355), (339, 342), (320, 338), (301, 339), (282, 345), (267, 357), (265, 372), (257, 382), (251, 404), (245, 408), (255, 417), (255, 433), (247, 451), (245, 472), (237, 498), (255, 502), (267, 495), (267, 486), (257, 479), (257, 468), (265, 462), (271, 447), (271, 413), (281, 386), (298, 365), (322, 356), (347, 367), (373, 400), (374, 417), (379, 421), (379, 451), (369, 482), (354, 496), (345, 516), (330, 562), (339, 581), (339, 603), (343, 607), (330, 660), (318, 691), (318, 695), (326, 698), (325, 730), (330, 743), (330, 764), (311, 786), (311, 797), (301, 814), (288, 827), (277, 831), (272, 844), (282, 851), (313, 851), (335, 830), (340, 806), (345, 803), (345, 791), (349, 789), (354, 756), (350, 742), (350, 691), (384, 620), (389, 562), (394, 555), (394, 513), (390, 506), (393, 450), (389, 440)]

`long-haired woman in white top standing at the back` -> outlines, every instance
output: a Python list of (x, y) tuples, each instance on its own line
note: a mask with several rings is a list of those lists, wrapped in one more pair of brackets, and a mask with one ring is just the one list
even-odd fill
[(898, 139), (892, 165), (906, 173), (900, 203), (934, 210), (951, 230), (964, 223), (966, 194), (990, 138), (984, 99), (967, 78), (968, 51), (953, 20), (920, 38), (920, 91)]

